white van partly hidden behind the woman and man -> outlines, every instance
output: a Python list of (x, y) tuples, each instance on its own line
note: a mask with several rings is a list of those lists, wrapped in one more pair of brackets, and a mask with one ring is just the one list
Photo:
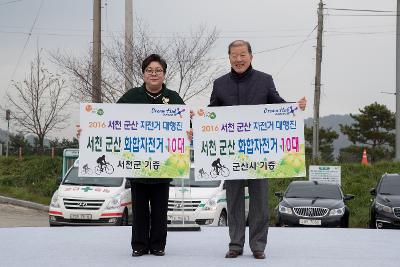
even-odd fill
[[(193, 167), (190, 179), (173, 179), (169, 189), (168, 222), (195, 222), (198, 225), (227, 226), (228, 209), (224, 181), (195, 181)], [(182, 184), (183, 183), (183, 184)], [(249, 194), (245, 188), (246, 218)]]

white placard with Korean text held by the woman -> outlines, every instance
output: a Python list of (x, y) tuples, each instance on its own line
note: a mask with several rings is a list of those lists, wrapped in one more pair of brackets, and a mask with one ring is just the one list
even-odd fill
[(184, 105), (82, 103), (79, 175), (188, 178), (189, 121)]

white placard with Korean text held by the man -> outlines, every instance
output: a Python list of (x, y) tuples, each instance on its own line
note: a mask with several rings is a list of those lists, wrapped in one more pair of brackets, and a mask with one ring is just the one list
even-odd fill
[(196, 180), (304, 177), (296, 103), (207, 107), (193, 119)]

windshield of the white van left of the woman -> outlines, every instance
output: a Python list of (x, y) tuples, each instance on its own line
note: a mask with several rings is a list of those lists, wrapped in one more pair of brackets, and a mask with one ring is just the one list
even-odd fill
[(78, 177), (78, 168), (73, 167), (63, 180), (63, 185), (77, 186), (105, 186), (120, 187), (124, 178), (122, 177)]

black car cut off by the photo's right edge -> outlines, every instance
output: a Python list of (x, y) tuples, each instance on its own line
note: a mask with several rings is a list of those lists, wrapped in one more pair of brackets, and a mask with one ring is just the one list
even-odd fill
[(370, 228), (400, 229), (400, 174), (384, 174), (371, 189)]

